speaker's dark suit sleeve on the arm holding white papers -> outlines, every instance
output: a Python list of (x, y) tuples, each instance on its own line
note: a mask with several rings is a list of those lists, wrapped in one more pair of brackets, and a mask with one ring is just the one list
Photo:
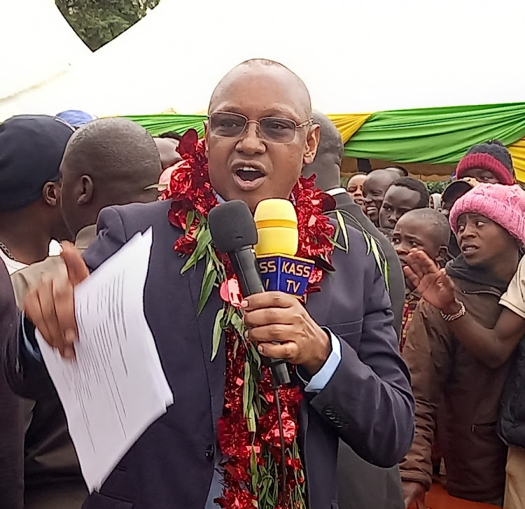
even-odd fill
[[(122, 218), (116, 209), (104, 209), (97, 221), (97, 238), (84, 253), (90, 272), (110, 258), (126, 241)], [(41, 361), (35, 338), (34, 325), (22, 317), (6, 344), (4, 370), (11, 389), (19, 396), (30, 399), (55, 398), (45, 364)], [(29, 346), (28, 346), (29, 343)]]

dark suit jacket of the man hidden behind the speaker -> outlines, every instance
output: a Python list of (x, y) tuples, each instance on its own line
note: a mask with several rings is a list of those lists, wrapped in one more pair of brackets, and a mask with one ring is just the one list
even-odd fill
[[(391, 243), (363, 214), (348, 193), (334, 195), (337, 209), (345, 210), (372, 237), (377, 239), (390, 267), (390, 297), (395, 330), (399, 333), (405, 303), (405, 278)], [(358, 228), (346, 218), (346, 224)], [(339, 442), (337, 457), (337, 491), (340, 509), (404, 509), (399, 466), (379, 468), (361, 459), (349, 445)]]

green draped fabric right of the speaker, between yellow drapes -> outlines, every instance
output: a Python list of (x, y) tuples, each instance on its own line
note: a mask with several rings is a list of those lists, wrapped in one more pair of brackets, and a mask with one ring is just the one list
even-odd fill
[(451, 164), (474, 144), (510, 145), (524, 136), (525, 103), (381, 111), (346, 142), (344, 155)]

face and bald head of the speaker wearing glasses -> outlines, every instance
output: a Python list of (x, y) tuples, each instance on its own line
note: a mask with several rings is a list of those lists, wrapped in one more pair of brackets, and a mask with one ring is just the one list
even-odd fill
[[(219, 87), (210, 104), (211, 117), (229, 112), (256, 121), (276, 117), (299, 125), (309, 120), (307, 94), (286, 69), (240, 66)], [(209, 124), (206, 137), (214, 190), (225, 200), (243, 200), (251, 211), (261, 200), (290, 196), (302, 166), (314, 160), (319, 135), (318, 126), (307, 125), (297, 128), (291, 141), (279, 143), (263, 139), (259, 130), (250, 122), (238, 136), (223, 137)]]

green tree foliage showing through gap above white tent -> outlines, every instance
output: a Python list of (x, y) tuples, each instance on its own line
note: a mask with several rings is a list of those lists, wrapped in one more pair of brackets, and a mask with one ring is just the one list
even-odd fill
[(55, 0), (69, 25), (97, 50), (144, 18), (160, 0)]

